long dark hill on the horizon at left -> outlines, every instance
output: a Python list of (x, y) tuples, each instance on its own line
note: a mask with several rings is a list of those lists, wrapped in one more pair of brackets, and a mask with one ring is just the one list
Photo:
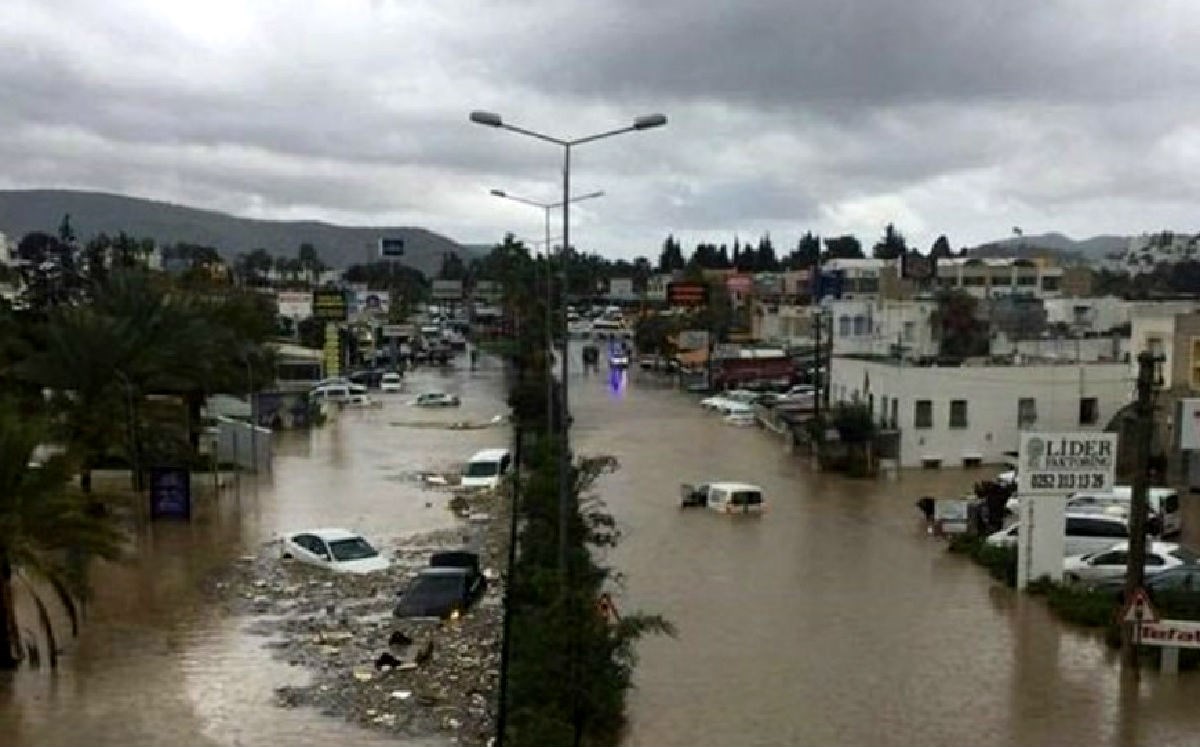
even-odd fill
[(152, 238), (160, 246), (176, 243), (217, 249), (226, 259), (265, 249), (277, 257), (295, 257), (301, 244), (317, 249), (322, 262), (344, 269), (378, 258), (380, 237), (404, 240), (404, 264), (426, 275), (442, 268), (442, 257), (455, 252), (476, 256), (444, 235), (414, 227), (348, 227), (319, 221), (260, 221), (215, 210), (103, 192), (72, 190), (0, 190), (0, 232), (17, 241), (32, 231), (54, 233), (64, 215), (76, 235), (86, 241), (98, 233), (124, 231)]

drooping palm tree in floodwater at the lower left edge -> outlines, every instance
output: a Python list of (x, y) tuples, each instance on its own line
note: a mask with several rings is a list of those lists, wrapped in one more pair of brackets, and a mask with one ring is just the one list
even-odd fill
[(54, 667), (59, 647), (42, 585), (61, 602), (74, 635), (76, 600), (86, 597), (88, 586), (85, 563), (72, 561), (120, 554), (121, 536), (112, 519), (90, 510), (86, 496), (68, 489), (74, 467), (67, 455), (31, 466), (47, 435), (43, 420), (20, 412), (8, 398), (0, 400), (0, 669), (20, 661), (18, 581), (34, 600)]

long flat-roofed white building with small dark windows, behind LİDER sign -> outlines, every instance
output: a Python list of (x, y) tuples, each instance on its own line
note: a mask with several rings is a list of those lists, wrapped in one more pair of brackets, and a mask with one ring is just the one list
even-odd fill
[(900, 466), (998, 464), (1021, 430), (1102, 430), (1133, 396), (1123, 363), (924, 367), (835, 357), (830, 400), (900, 431)]

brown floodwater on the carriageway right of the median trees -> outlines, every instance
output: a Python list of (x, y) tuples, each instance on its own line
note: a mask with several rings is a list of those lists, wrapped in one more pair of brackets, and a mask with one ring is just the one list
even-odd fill
[[(618, 605), (678, 626), (640, 646), (626, 745), (1196, 742), (1200, 674), (1123, 680), (1096, 635), (925, 536), (919, 496), (991, 471), (848, 480), (650, 374), (571, 386), (576, 449), (620, 462), (598, 488), (624, 532)], [(712, 479), (761, 484), (768, 513), (678, 508)]]

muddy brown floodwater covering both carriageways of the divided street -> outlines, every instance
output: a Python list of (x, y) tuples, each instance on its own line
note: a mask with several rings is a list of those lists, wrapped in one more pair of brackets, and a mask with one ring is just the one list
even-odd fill
[[(270, 474), (199, 501), (191, 524), (146, 526), (128, 562), (96, 574), (60, 670), (0, 686), (0, 746), (396, 743), (276, 705), (275, 688), (308, 675), (272, 658), (246, 618), (210, 609), (202, 587), (293, 528), (346, 526), (390, 550), (456, 526), (448, 495), (418, 474), (506, 446), (504, 425), (450, 428), (506, 410), (488, 363), (420, 370), (382, 408), (281, 434)], [(425, 389), (463, 406), (409, 407)], [(641, 371), (572, 376), (577, 449), (620, 461), (599, 484), (624, 532), (610, 558), (628, 574), (619, 604), (679, 629), (640, 646), (628, 745), (1194, 743), (1198, 675), (1147, 671), (1122, 691), (1097, 637), (925, 536), (913, 501), (990, 471), (818, 474), (778, 436), (727, 426), (696, 399)], [(761, 484), (768, 513), (682, 512), (679, 483), (709, 479)]]

